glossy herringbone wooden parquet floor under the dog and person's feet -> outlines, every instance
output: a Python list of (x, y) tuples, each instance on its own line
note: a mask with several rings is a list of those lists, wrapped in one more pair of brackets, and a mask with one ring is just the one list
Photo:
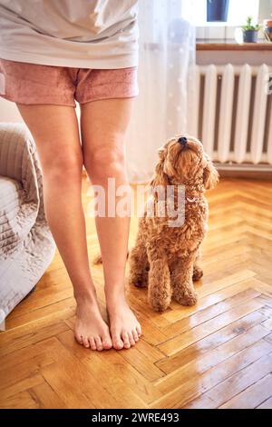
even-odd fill
[[(0, 406), (272, 408), (271, 205), (269, 183), (220, 182), (209, 194), (198, 305), (152, 313), (146, 290), (129, 289), (143, 327), (129, 351), (74, 342), (72, 286), (56, 254), (0, 334)], [(93, 258), (92, 219), (87, 226)], [(131, 244), (136, 229), (133, 220)], [(102, 267), (92, 270), (104, 307)]]

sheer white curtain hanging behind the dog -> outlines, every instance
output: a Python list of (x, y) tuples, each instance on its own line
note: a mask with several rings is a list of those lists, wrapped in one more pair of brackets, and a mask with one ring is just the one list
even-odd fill
[(140, 0), (140, 95), (127, 134), (131, 182), (149, 179), (158, 148), (188, 132), (195, 28), (190, 0)]

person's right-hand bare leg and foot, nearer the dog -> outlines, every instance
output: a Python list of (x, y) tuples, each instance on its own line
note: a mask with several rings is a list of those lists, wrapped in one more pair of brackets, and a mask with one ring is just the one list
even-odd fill
[[(124, 135), (131, 117), (131, 99), (109, 99), (83, 104), (83, 162), (92, 184), (101, 185), (108, 197), (108, 178), (116, 188), (128, 185), (124, 161)], [(119, 198), (115, 199), (117, 204)], [(106, 208), (107, 208), (106, 204)], [(96, 217), (102, 251), (105, 295), (113, 347), (130, 348), (139, 340), (141, 326), (125, 299), (124, 273), (130, 218)]]

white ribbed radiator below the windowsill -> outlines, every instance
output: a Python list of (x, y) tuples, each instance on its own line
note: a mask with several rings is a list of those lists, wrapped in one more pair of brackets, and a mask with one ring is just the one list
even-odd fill
[(199, 136), (214, 161), (272, 165), (271, 72), (267, 65), (194, 68), (189, 132)]

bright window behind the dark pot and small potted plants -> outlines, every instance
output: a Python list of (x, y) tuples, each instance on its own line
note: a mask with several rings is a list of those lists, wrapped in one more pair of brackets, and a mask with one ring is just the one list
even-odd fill
[(255, 22), (258, 20), (259, 0), (229, 0), (227, 24), (207, 22), (207, 0), (191, 2), (183, 2), (183, 14), (196, 26), (239, 26), (246, 22), (249, 15)]

